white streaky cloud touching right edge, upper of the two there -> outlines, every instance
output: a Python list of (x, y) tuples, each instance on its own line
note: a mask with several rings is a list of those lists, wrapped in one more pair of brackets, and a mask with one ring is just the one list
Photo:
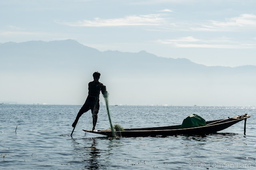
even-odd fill
[(241, 29), (255, 29), (256, 15), (242, 14), (238, 17), (226, 19), (224, 22), (209, 21), (208, 24), (202, 24), (197, 28), (190, 28), (194, 31), (211, 31), (211, 32), (225, 32), (225, 31), (239, 31)]

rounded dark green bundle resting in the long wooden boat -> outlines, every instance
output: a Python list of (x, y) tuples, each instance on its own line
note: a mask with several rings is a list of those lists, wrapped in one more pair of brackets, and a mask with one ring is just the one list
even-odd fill
[(205, 125), (206, 125), (206, 121), (202, 117), (196, 114), (193, 114), (183, 120), (180, 128), (202, 127)]

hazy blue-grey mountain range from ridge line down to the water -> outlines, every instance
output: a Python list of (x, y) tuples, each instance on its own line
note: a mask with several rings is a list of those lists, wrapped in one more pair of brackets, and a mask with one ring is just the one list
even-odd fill
[(0, 51), (0, 88), (8, 89), (0, 91), (2, 101), (27, 95), (18, 102), (78, 104), (100, 71), (117, 104), (256, 105), (253, 65), (208, 67), (146, 51), (102, 52), (74, 40), (8, 42)]

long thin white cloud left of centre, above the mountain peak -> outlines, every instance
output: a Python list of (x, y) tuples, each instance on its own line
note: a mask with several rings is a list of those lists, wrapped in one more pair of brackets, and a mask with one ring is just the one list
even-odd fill
[(114, 26), (145, 26), (152, 25), (158, 26), (165, 19), (162, 17), (163, 14), (149, 14), (149, 15), (133, 15), (126, 16), (124, 18), (112, 18), (112, 19), (101, 19), (94, 18), (94, 20), (82, 20), (78, 22), (60, 22), (55, 20), (58, 24), (64, 24), (68, 26), (77, 27), (114, 27)]

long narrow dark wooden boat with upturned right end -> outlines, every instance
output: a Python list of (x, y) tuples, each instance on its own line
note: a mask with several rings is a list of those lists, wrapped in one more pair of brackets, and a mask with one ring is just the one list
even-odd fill
[[(236, 116), (228, 119), (219, 119), (214, 121), (206, 121), (206, 126), (194, 128), (180, 128), (181, 125), (168, 127), (151, 127), (151, 128), (126, 128), (124, 131), (116, 131), (119, 137), (146, 137), (146, 136), (172, 136), (178, 134), (212, 134), (220, 130), (224, 130), (242, 120), (244, 123), (244, 134), (246, 128), (246, 119), (249, 118), (247, 114)], [(84, 129), (83, 129), (84, 130)], [(106, 130), (84, 130), (85, 132), (103, 134), (112, 137), (110, 129)]]

